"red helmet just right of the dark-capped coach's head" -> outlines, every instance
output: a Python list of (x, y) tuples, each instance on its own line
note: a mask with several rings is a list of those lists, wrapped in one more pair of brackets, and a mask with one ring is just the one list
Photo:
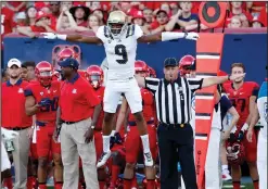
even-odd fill
[(87, 68), (88, 80), (93, 88), (99, 88), (103, 83), (103, 71), (99, 65), (90, 65)]

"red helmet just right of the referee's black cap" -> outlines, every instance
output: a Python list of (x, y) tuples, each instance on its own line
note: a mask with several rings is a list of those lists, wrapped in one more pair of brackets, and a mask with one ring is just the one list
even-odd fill
[(179, 71), (181, 76), (190, 74), (191, 71), (195, 71), (195, 59), (192, 55), (184, 55), (180, 59)]

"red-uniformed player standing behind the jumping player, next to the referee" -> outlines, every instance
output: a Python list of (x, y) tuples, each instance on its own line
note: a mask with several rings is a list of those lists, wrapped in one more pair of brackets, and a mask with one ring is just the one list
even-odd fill
[[(136, 74), (142, 77), (148, 75), (148, 65), (143, 61), (135, 62)], [(152, 153), (152, 158), (154, 162), (157, 155), (157, 146), (156, 146), (156, 127), (154, 125), (154, 98), (153, 93), (149, 90), (141, 88), (142, 96), (142, 104), (143, 104), (143, 116), (148, 124), (148, 134), (149, 134), (149, 142), (150, 149)], [(128, 112), (128, 104), (126, 99), (123, 100), (122, 110), (123, 112)], [(120, 121), (118, 121), (120, 122)], [(122, 123), (119, 123), (122, 125)], [(137, 128), (137, 124), (135, 122), (135, 117), (131, 113), (128, 115), (128, 133), (125, 141), (126, 148), (126, 167), (124, 173), (124, 189), (130, 189), (132, 186), (132, 179), (135, 177), (136, 163), (138, 161), (139, 152), (141, 151), (141, 139), (139, 135), (139, 130)], [(146, 167), (145, 168), (146, 176), (146, 189), (155, 188), (155, 168)]]

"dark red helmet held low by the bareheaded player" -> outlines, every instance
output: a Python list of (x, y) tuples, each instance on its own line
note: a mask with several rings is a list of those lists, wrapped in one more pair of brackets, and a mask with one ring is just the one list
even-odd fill
[(228, 142), (227, 143), (227, 160), (232, 165), (243, 164), (245, 159), (245, 149), (242, 142)]

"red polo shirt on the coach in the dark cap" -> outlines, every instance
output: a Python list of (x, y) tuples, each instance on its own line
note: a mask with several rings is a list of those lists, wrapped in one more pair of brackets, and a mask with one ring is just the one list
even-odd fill
[(65, 122), (78, 122), (92, 117), (92, 108), (100, 103), (92, 86), (78, 74), (62, 85), (60, 108), (61, 118)]

